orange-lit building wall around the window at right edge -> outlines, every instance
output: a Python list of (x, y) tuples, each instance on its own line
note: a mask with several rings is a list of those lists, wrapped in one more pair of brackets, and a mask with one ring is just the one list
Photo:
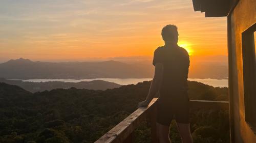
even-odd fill
[(242, 32), (256, 22), (256, 1), (240, 0), (227, 20), (231, 140), (252, 143), (256, 134), (245, 122)]

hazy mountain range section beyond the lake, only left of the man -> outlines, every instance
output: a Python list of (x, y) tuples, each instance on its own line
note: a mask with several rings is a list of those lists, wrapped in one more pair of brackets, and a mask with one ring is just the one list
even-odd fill
[[(143, 71), (143, 72), (141, 72)], [(105, 62), (32, 62), (28, 59), (10, 60), (0, 64), (3, 78), (146, 78), (152, 70), (146, 66), (136, 66), (117, 61)]]

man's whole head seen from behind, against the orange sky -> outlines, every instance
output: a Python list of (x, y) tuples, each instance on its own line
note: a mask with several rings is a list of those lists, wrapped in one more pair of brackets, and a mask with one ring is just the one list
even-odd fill
[(178, 43), (178, 30), (175, 25), (166, 25), (162, 29), (162, 37), (164, 42)]

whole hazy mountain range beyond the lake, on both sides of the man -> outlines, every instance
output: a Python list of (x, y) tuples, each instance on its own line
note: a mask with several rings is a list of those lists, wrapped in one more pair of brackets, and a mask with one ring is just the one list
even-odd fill
[[(124, 63), (104, 62), (33, 62), (28, 59), (10, 60), (0, 64), (0, 77), (6, 79), (38, 78), (152, 78), (154, 66), (151, 62)], [(189, 78), (225, 78), (227, 66), (204, 63), (189, 68)]]

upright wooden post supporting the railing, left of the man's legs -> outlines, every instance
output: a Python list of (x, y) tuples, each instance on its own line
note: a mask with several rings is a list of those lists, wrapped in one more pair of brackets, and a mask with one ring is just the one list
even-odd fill
[(151, 110), (150, 113), (150, 125), (151, 125), (151, 142), (158, 143), (158, 136), (157, 136), (157, 106), (156, 104)]

